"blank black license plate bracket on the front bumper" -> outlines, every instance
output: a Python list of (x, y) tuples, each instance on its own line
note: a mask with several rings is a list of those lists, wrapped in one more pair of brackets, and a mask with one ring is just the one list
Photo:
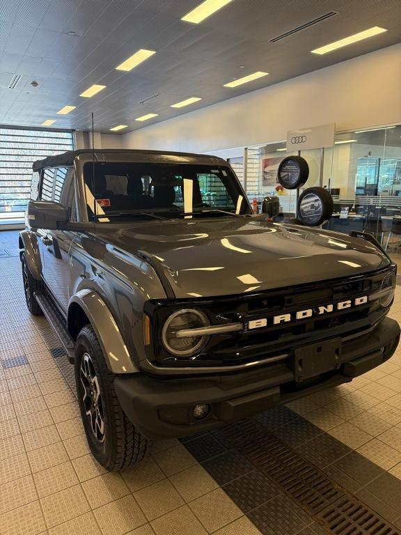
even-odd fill
[(320, 375), (340, 367), (342, 341), (334, 338), (294, 348), (291, 368), (297, 382)]

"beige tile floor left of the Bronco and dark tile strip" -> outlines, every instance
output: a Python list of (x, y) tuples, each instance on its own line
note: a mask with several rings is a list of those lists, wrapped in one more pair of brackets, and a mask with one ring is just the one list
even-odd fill
[(54, 359), (47, 321), (26, 310), (19, 258), (0, 260), (0, 281), (0, 535), (260, 533), (177, 440), (121, 474), (100, 467), (72, 366)]

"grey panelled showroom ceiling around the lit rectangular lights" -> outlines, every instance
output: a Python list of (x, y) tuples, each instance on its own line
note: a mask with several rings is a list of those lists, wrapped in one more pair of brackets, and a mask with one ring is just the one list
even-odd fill
[[(0, 88), (0, 123), (38, 126), (55, 118), (56, 127), (86, 129), (93, 112), (97, 130), (107, 132), (116, 123), (134, 130), (401, 40), (400, 0), (233, 0), (201, 24), (180, 20), (200, 2), (0, 0), (0, 73), (22, 74), (15, 89)], [(330, 11), (338, 14), (270, 41)], [(373, 25), (388, 31), (327, 56), (310, 54)], [(132, 72), (115, 69), (139, 48), (157, 54)], [(255, 70), (270, 74), (223, 87)], [(79, 97), (96, 83), (107, 88), (91, 99)], [(139, 104), (156, 93), (162, 94)], [(202, 100), (171, 108), (189, 96)], [(77, 109), (57, 116), (65, 104)], [(159, 116), (135, 121), (149, 112)]]

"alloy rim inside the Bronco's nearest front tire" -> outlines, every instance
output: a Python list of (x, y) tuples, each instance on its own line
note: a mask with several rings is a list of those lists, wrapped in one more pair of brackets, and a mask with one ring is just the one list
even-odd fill
[(104, 412), (99, 380), (91, 355), (85, 352), (81, 359), (80, 380), (82, 401), (93, 435), (99, 442), (104, 442)]

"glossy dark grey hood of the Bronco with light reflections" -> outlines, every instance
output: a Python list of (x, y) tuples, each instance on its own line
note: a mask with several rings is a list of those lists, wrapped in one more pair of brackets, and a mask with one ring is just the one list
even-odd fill
[(256, 217), (99, 227), (98, 238), (129, 254), (146, 253), (178, 298), (353, 277), (390, 264), (361, 238)]

